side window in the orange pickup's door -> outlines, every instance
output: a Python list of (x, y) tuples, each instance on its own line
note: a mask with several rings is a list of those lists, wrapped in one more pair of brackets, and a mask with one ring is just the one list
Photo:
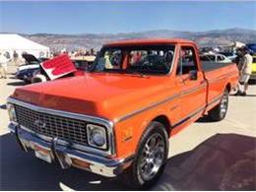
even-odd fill
[(191, 46), (182, 46), (176, 73), (185, 75), (195, 70), (198, 70), (198, 68), (194, 48)]

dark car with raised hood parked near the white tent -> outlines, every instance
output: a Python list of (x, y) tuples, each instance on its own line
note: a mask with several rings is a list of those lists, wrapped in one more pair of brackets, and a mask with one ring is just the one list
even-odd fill
[(20, 65), (17, 69), (15, 77), (24, 80), (26, 83), (32, 83), (32, 76), (39, 69), (39, 64), (47, 58), (36, 58), (32, 54), (23, 54), (26, 64)]

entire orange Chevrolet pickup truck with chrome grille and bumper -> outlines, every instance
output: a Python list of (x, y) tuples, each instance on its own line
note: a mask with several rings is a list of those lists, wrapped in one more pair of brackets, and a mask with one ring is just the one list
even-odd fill
[(201, 63), (193, 41), (117, 41), (85, 75), (16, 89), (9, 128), (39, 159), (145, 187), (163, 171), (169, 137), (203, 115), (224, 119), (237, 80), (235, 64)]

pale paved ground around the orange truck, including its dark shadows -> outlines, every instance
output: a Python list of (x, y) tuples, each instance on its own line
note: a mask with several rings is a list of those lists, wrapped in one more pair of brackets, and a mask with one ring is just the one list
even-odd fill
[[(62, 170), (21, 151), (8, 129), (6, 97), (24, 83), (0, 80), (1, 190), (127, 190), (117, 179)], [(229, 96), (222, 122), (200, 119), (170, 138), (169, 159), (154, 190), (256, 189), (256, 86)]]

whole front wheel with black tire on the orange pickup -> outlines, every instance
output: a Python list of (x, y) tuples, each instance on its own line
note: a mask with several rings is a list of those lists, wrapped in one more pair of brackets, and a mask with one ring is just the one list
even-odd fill
[(168, 136), (165, 127), (153, 121), (143, 133), (135, 160), (123, 174), (123, 183), (132, 189), (151, 187), (159, 180), (167, 155)]

